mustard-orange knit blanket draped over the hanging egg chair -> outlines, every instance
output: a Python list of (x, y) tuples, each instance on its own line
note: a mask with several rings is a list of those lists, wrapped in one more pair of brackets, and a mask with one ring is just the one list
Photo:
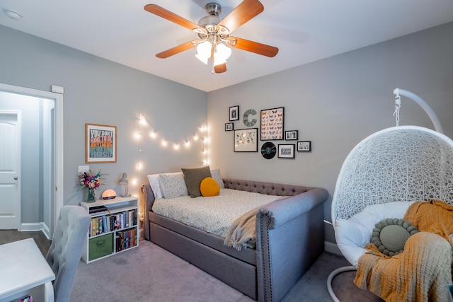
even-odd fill
[(405, 220), (420, 233), (411, 236), (404, 252), (389, 257), (369, 243), (360, 257), (354, 283), (385, 301), (449, 301), (452, 283), (453, 206), (415, 202)]

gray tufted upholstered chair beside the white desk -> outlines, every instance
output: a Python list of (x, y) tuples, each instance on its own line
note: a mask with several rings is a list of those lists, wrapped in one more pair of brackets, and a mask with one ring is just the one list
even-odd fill
[(53, 286), (56, 302), (69, 301), (90, 221), (91, 216), (79, 206), (64, 206), (59, 213), (52, 244), (45, 258), (55, 272)]

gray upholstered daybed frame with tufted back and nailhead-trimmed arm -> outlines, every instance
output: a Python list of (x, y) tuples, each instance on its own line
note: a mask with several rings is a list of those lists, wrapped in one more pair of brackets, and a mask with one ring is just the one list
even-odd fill
[(258, 210), (256, 248), (236, 250), (225, 246), (224, 238), (154, 213), (155, 194), (149, 183), (140, 187), (145, 238), (255, 300), (280, 301), (323, 252), (323, 202), (328, 192), (229, 178), (223, 184), (226, 189), (287, 196)]

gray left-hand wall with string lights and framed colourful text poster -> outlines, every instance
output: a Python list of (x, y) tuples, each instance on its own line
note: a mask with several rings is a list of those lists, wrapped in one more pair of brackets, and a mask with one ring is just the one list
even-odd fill
[[(178, 151), (172, 144), (200, 135), (207, 120), (205, 92), (4, 26), (0, 37), (0, 83), (41, 91), (50, 91), (52, 84), (64, 86), (64, 204), (86, 198), (77, 181), (78, 165), (85, 165), (85, 123), (117, 127), (117, 162), (90, 164), (93, 173), (102, 169), (104, 174), (98, 196), (108, 188), (122, 194), (124, 187), (117, 182), (123, 172), (130, 178), (129, 191), (139, 194), (133, 180), (142, 183), (149, 173), (202, 165), (201, 140)], [(140, 112), (149, 124), (139, 126)], [(157, 139), (149, 137), (151, 130)]]

